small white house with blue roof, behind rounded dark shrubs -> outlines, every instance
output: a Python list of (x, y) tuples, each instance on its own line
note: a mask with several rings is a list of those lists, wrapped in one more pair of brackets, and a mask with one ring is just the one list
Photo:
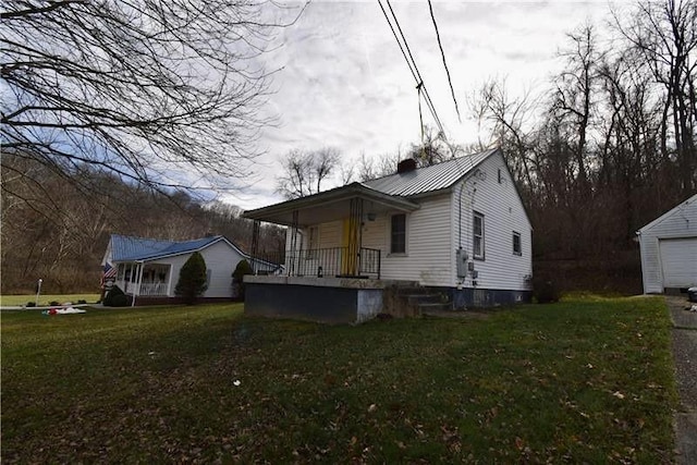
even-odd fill
[[(162, 241), (112, 234), (102, 267), (114, 283), (135, 302), (175, 297), (174, 287), (182, 266), (194, 252), (206, 260), (208, 287), (203, 298), (232, 298), (232, 272), (242, 259), (249, 259), (237, 246), (217, 235), (193, 241)], [(257, 269), (272, 272), (271, 264), (257, 262)], [(115, 270), (115, 273), (114, 273)]]

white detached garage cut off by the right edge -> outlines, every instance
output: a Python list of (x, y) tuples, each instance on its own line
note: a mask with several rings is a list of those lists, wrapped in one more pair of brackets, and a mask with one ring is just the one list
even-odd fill
[(645, 294), (697, 285), (697, 194), (636, 234)]

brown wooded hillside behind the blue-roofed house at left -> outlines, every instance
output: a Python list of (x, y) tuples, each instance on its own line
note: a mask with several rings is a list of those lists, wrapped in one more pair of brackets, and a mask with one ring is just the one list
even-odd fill
[[(98, 292), (112, 233), (173, 241), (221, 234), (248, 252), (252, 222), (241, 209), (164, 195), (94, 170), (68, 174), (2, 154), (2, 294)], [(259, 249), (282, 250), (285, 231), (264, 225)], [(231, 277), (232, 281), (232, 277)]]

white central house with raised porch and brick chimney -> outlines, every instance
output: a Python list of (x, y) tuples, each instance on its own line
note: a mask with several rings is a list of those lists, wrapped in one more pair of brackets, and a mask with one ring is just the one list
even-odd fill
[[(451, 308), (529, 301), (531, 227), (499, 149), (396, 171), (245, 211), (289, 227), (286, 277), (248, 279), (245, 310), (358, 321), (390, 284), (436, 290)], [(328, 317), (338, 295), (343, 315)]]

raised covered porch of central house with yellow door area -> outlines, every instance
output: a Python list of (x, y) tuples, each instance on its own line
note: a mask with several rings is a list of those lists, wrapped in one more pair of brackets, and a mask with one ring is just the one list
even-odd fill
[[(351, 184), (282, 204), (246, 211), (254, 220), (252, 256), (284, 264), (283, 276), (245, 277), (245, 313), (306, 318), (326, 322), (360, 322), (383, 310), (386, 250), (364, 246), (366, 222), (418, 205)], [(288, 227), (286, 250), (258, 250), (259, 222)], [(331, 230), (328, 224), (332, 224)], [(320, 228), (325, 228), (320, 233)], [(253, 267), (254, 268), (254, 267)], [(404, 283), (414, 284), (414, 283)]]

